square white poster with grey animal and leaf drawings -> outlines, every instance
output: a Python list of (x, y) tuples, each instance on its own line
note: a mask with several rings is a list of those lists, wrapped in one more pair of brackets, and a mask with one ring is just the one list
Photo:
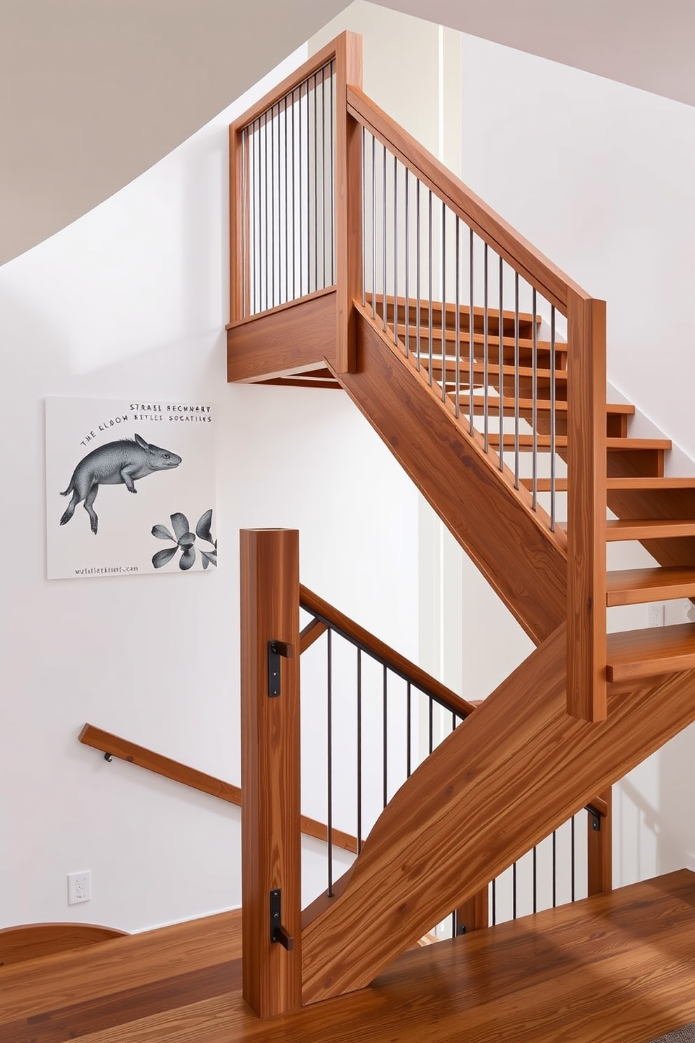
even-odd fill
[(215, 409), (46, 399), (49, 579), (215, 572)]

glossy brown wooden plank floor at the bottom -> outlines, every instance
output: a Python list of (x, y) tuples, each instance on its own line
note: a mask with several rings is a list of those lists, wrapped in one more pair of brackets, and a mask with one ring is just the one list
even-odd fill
[(272, 1021), (228, 913), (0, 968), (0, 1043), (646, 1043), (695, 1021), (695, 874), (416, 949)]

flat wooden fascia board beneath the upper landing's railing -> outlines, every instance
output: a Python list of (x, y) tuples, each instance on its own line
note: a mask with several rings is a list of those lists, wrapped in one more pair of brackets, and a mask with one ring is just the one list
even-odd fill
[(336, 357), (336, 288), (227, 328), (227, 380), (249, 383), (316, 369)]

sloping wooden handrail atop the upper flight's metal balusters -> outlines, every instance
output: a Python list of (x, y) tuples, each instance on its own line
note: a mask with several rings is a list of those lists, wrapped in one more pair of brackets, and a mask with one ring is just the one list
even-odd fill
[(584, 291), (565, 272), (471, 192), (402, 127), (395, 124), (362, 91), (348, 89), (348, 111), (379, 141), (386, 143), (392, 153), (536, 287), (546, 300), (555, 305), (563, 314), (567, 313), (568, 289), (579, 293)]

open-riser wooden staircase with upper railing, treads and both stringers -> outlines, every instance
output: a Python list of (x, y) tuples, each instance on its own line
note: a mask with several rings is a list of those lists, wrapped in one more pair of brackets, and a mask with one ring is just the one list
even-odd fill
[[(670, 443), (606, 404), (603, 302), (361, 74), (345, 34), (230, 128), (228, 379), (343, 388), (537, 650), (304, 911), (282, 1009), (369, 984), (695, 720), (689, 625), (606, 637), (609, 606), (695, 598), (695, 480), (665, 478)], [(656, 564), (606, 574), (614, 540)]]

